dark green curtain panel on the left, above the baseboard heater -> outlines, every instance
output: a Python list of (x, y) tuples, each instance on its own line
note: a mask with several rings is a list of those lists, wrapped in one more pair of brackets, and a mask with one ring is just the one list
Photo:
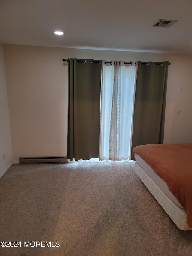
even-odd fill
[(68, 140), (70, 160), (98, 158), (102, 60), (68, 59)]

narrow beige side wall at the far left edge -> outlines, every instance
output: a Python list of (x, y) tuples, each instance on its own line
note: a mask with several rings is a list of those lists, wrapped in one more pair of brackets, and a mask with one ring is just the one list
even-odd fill
[[(3, 159), (4, 154), (4, 159)], [(13, 162), (3, 45), (0, 44), (0, 177)]]

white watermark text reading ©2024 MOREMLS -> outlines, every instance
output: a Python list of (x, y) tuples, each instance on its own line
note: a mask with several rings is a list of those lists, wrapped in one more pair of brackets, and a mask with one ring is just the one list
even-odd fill
[(49, 241), (49, 242), (47, 242), (47, 241), (36, 241), (36, 242), (35, 241), (27, 241), (26, 242), (26, 241), (24, 241), (23, 243), (21, 241), (20, 242), (17, 242), (17, 241), (4, 242), (4, 241), (2, 241), (0, 243), (0, 246), (1, 247), (22, 247), (22, 246), (24, 246), (24, 247), (59, 247), (60, 244), (58, 241), (56, 241), (56, 242), (52, 242), (52, 241)]

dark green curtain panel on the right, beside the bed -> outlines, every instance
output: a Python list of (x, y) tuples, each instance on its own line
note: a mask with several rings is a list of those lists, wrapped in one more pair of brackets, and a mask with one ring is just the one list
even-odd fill
[(138, 63), (132, 150), (137, 145), (163, 143), (169, 62)]

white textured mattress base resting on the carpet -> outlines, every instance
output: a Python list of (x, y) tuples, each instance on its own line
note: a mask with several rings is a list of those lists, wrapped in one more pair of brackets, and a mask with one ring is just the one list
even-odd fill
[(148, 188), (149, 192), (155, 197), (158, 203), (162, 206), (164, 211), (170, 216), (176, 226), (181, 230), (192, 230), (187, 224), (187, 214), (185, 209), (180, 208), (172, 200), (169, 199), (149, 175), (140, 167), (137, 162), (135, 163), (135, 173)]

